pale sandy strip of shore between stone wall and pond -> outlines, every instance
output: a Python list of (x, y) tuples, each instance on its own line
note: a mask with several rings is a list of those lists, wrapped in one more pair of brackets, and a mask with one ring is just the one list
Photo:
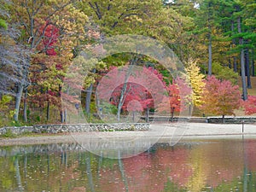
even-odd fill
[(219, 139), (219, 138), (256, 138), (256, 125), (230, 124), (207, 124), (207, 123), (188, 123), (188, 124), (162, 124), (150, 125), (149, 131), (113, 131), (113, 132), (84, 132), (52, 136), (37, 137), (17, 137), (0, 138), (0, 146), (10, 145), (28, 145), (28, 144), (46, 144), (46, 143), (75, 143), (80, 139), (85, 140), (103, 140), (103, 139), (121, 139), (129, 140), (137, 137), (154, 138), (158, 141), (167, 141), (172, 138), (174, 142), (180, 139)]

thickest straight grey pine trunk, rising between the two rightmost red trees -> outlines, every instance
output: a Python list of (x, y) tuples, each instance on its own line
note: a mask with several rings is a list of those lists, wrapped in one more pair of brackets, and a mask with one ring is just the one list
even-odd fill
[[(241, 17), (237, 18), (237, 30), (238, 33), (241, 33)], [(239, 38), (239, 44), (243, 44), (242, 38)], [(241, 48), (240, 53), (240, 64), (241, 64), (241, 85), (242, 85), (242, 98), (244, 101), (247, 100), (247, 84), (246, 84), (246, 75), (245, 75), (245, 63), (244, 63), (244, 50)]]

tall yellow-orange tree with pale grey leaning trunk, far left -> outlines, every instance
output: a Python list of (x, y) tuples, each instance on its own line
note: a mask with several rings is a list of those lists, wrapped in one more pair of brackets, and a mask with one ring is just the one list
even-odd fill
[[(60, 6), (54, 6), (54, 2), (44, 4), (44, 2), (39, 1), (13, 1), (14, 4), (9, 6), (9, 11), (13, 15), (11, 17), (11, 22), (18, 23), (20, 25), (20, 30), (22, 30), (22, 37), (19, 38), (20, 44), (26, 46), (31, 53), (38, 54), (42, 49), (38, 49), (39, 45), (44, 39), (45, 29), (51, 24), (48, 22), (47, 25), (44, 25), (47, 20), (50, 20), (57, 11), (61, 11), (63, 4)], [(47, 7), (48, 5), (49, 7)], [(51, 8), (52, 6), (52, 8)], [(54, 7), (56, 9), (54, 9)], [(47, 10), (47, 11), (46, 11)], [(44, 26), (43, 30), (42, 26)], [(27, 57), (27, 62), (31, 64), (31, 55)], [(25, 77), (28, 78), (29, 73), (26, 72)], [(20, 101), (25, 90), (25, 108), (24, 108), (24, 117), (26, 120), (26, 96), (27, 96), (27, 87), (23, 84), (15, 84), (18, 90), (17, 97), (15, 99), (15, 121), (18, 121), (18, 116), (20, 112)]]

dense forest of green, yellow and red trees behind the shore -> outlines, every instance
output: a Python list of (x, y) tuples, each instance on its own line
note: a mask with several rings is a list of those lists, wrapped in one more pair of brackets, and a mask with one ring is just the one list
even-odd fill
[[(254, 0), (0, 1), (0, 126), (256, 113)], [(125, 35), (165, 44), (188, 78), (142, 53), (101, 56)]]

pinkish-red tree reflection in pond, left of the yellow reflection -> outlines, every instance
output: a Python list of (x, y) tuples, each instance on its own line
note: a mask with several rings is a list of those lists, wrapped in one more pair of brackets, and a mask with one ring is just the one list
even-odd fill
[(183, 186), (192, 174), (186, 163), (188, 150), (158, 148), (155, 154), (139, 154), (122, 160), (129, 191), (163, 191), (168, 179)]

